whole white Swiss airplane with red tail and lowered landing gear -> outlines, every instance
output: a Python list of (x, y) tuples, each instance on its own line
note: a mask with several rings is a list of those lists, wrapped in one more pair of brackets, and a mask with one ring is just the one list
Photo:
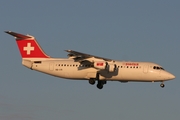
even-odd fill
[(74, 50), (68, 52), (68, 58), (53, 58), (40, 47), (35, 37), (12, 31), (5, 31), (15, 37), (19, 48), (22, 65), (55, 77), (88, 80), (89, 84), (97, 82), (97, 88), (102, 89), (107, 81), (127, 82), (161, 82), (175, 78), (162, 66), (153, 62), (118, 61), (94, 56)]

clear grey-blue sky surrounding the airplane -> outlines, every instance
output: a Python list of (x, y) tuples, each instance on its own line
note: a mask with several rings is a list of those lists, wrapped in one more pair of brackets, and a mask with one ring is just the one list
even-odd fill
[[(0, 1), (0, 119), (177, 120), (180, 118), (179, 0)], [(59, 79), (29, 70), (11, 30), (36, 37), (47, 54), (73, 49), (106, 58), (151, 61), (176, 79), (160, 83)]]

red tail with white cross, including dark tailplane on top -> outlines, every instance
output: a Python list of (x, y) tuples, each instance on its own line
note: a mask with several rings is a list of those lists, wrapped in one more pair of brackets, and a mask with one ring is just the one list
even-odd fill
[(22, 58), (49, 58), (33, 36), (11, 31), (5, 32), (15, 37)]

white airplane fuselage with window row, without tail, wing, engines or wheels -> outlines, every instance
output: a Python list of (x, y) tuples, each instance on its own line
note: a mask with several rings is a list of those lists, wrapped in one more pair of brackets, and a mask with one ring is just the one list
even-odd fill
[(114, 61), (117, 70), (109, 72), (99, 70), (91, 65), (82, 65), (74, 62), (73, 59), (23, 59), (23, 65), (33, 70), (43, 72), (52, 76), (66, 78), (89, 80), (96, 78), (99, 73), (99, 80), (106, 81), (140, 81), (140, 82), (160, 82), (173, 79), (174, 76), (165, 71), (161, 66), (151, 62), (125, 62)]

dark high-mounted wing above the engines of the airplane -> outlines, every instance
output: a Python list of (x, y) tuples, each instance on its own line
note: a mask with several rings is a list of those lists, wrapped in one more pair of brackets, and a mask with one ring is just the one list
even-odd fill
[(108, 59), (108, 58), (98, 57), (98, 56), (94, 56), (94, 55), (90, 55), (90, 54), (86, 54), (86, 53), (82, 53), (82, 52), (77, 52), (77, 51), (74, 51), (74, 50), (65, 50), (65, 51), (69, 53), (68, 54), (69, 58), (73, 58), (73, 59), (75, 59), (76, 61), (79, 61), (79, 62), (89, 61), (88, 59), (113, 61), (113, 60)]

